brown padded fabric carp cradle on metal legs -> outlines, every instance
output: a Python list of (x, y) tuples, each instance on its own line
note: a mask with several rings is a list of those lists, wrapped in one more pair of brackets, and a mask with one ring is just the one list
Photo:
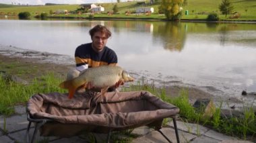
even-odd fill
[[(102, 95), (96, 92), (75, 94), (68, 99), (67, 94), (49, 93), (33, 95), (27, 104), (27, 142), (34, 142), (40, 136), (71, 137), (82, 132), (110, 134), (140, 126), (151, 126), (160, 132), (162, 121), (171, 117), (179, 142), (176, 117), (179, 108), (166, 103), (147, 91), (110, 92)], [(34, 133), (29, 131), (34, 123)]]

